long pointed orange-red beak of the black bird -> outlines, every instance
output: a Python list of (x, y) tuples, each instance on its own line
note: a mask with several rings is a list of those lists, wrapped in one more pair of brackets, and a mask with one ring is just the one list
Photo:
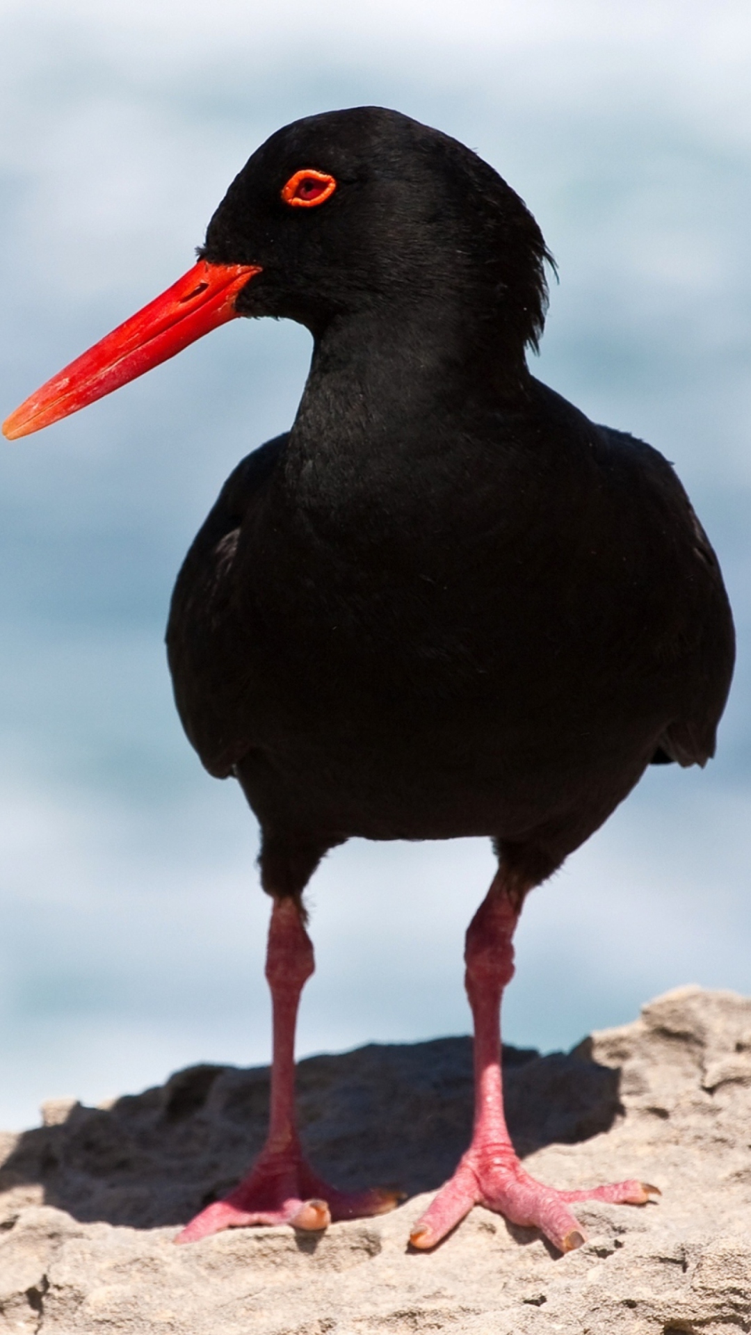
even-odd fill
[(166, 292), (29, 395), (3, 423), (3, 434), (16, 441), (51, 426), (234, 319), (238, 292), (259, 272), (258, 264), (199, 260)]

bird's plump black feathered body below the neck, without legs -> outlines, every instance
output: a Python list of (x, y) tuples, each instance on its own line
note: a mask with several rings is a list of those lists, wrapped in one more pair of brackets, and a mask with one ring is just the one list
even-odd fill
[[(369, 423), (382, 400), (358, 388)], [(409, 418), (374, 449), (346, 409), (269, 442), (178, 579), (178, 706), (241, 780), (271, 885), (285, 848), (351, 836), (488, 834), (539, 880), (656, 752), (714, 750), (727, 601), (661, 455), (532, 376), (474, 421), (418, 414), (417, 459)]]

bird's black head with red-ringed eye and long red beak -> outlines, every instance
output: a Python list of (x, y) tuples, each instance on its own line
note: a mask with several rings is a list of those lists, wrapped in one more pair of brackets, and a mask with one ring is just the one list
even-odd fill
[(543, 235), (518, 196), (457, 140), (358, 107), (277, 131), (211, 219), (198, 263), (3, 425), (28, 435), (110, 394), (238, 315), (286, 316), (315, 338), (333, 320), (398, 320), (452, 296), (504, 355), (536, 346)]

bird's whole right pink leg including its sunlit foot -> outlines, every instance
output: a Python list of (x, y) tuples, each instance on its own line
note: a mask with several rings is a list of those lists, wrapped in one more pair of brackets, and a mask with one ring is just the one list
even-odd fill
[(413, 1228), (410, 1242), (428, 1248), (445, 1238), (473, 1206), (505, 1215), (513, 1224), (536, 1226), (560, 1251), (581, 1247), (584, 1232), (568, 1206), (609, 1200), (643, 1206), (656, 1187), (620, 1181), (581, 1191), (556, 1191), (521, 1167), (504, 1117), (500, 1009), (513, 977), (512, 937), (521, 912), (498, 872), (466, 933), (466, 992), (474, 1019), (474, 1131), (453, 1177)]

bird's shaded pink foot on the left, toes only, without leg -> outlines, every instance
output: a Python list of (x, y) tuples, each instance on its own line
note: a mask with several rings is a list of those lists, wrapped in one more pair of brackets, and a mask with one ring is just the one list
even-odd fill
[(224, 1196), (191, 1219), (176, 1243), (194, 1243), (250, 1224), (291, 1224), (310, 1232), (327, 1228), (333, 1220), (385, 1215), (404, 1200), (400, 1191), (371, 1187), (343, 1192), (318, 1177), (299, 1148), (265, 1149), (247, 1177)]

